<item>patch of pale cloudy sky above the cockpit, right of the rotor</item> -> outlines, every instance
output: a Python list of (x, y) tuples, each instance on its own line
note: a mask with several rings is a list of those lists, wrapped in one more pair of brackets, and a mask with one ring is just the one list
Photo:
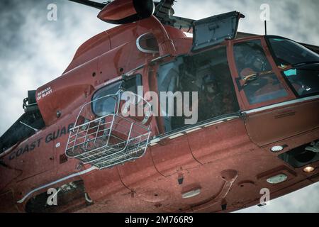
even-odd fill
[(268, 31), (303, 43), (319, 45), (318, 1), (311, 0), (204, 0), (175, 3), (177, 16), (206, 18), (208, 16), (240, 11), (246, 18), (240, 20), (239, 31), (264, 34), (264, 21), (260, 20), (260, 6), (269, 4)]

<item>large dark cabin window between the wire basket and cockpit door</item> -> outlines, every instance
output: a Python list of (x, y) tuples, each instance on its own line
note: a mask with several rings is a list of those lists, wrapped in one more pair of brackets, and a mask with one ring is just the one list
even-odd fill
[[(197, 106), (198, 123), (239, 111), (225, 46), (196, 55), (177, 57), (174, 62), (161, 65), (157, 84), (159, 92), (189, 92), (190, 96), (192, 92), (197, 92), (198, 100), (192, 97), (189, 100), (192, 111), (196, 111), (193, 106)], [(166, 104), (168, 107), (169, 100)], [(168, 112), (161, 113), (164, 116), (165, 132), (186, 126), (185, 116), (177, 116), (177, 105), (181, 105), (181, 102), (177, 103), (174, 99), (174, 116)]]

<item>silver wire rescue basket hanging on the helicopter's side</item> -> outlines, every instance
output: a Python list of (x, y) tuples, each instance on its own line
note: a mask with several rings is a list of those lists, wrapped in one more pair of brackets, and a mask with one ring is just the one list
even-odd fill
[(67, 157), (75, 157), (101, 170), (142, 157), (149, 139), (150, 126), (132, 118), (116, 113), (89, 121), (80, 111), (69, 133), (65, 153)]

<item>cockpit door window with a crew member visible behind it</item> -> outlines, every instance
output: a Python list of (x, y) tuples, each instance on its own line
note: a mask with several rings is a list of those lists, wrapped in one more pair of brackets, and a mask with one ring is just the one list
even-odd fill
[(238, 77), (249, 104), (288, 96), (286, 89), (272, 71), (260, 40), (250, 40), (234, 45), (235, 63)]

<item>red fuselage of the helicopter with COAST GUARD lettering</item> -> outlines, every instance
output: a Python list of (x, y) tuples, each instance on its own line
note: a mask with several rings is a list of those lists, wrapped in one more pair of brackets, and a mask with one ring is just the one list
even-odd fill
[[(147, 33), (156, 38), (157, 52), (137, 47), (137, 39)], [(235, 211), (260, 204), (261, 189), (269, 189), (274, 199), (318, 182), (318, 157), (307, 153), (300, 160), (291, 153), (303, 155), (307, 146), (315, 149), (319, 96), (299, 97), (293, 91), (282, 76), (293, 68), (279, 67), (269, 39), (250, 35), (192, 52), (193, 38), (150, 16), (87, 40), (62, 76), (35, 92), (45, 126), (1, 153), (0, 211)], [(272, 74), (258, 75), (267, 77), (267, 86), (254, 91), (255, 100), (247, 92), (252, 86), (245, 84), (249, 78), (242, 79), (239, 72), (236, 51), (242, 43), (259, 43)], [(67, 157), (70, 132), (82, 106), (97, 91), (121, 82), (125, 75), (140, 74), (144, 94), (159, 94), (163, 65), (207, 52), (215, 57), (218, 51), (225, 55), (237, 111), (170, 130), (162, 116), (152, 116), (145, 153), (118, 165), (94, 168)], [(201, 76), (207, 69), (199, 59), (194, 64)], [(258, 101), (278, 91), (283, 95)], [(86, 113), (89, 121), (96, 119), (93, 113)], [(305, 167), (313, 171), (305, 172)], [(50, 188), (59, 191), (57, 206), (45, 205)]]

